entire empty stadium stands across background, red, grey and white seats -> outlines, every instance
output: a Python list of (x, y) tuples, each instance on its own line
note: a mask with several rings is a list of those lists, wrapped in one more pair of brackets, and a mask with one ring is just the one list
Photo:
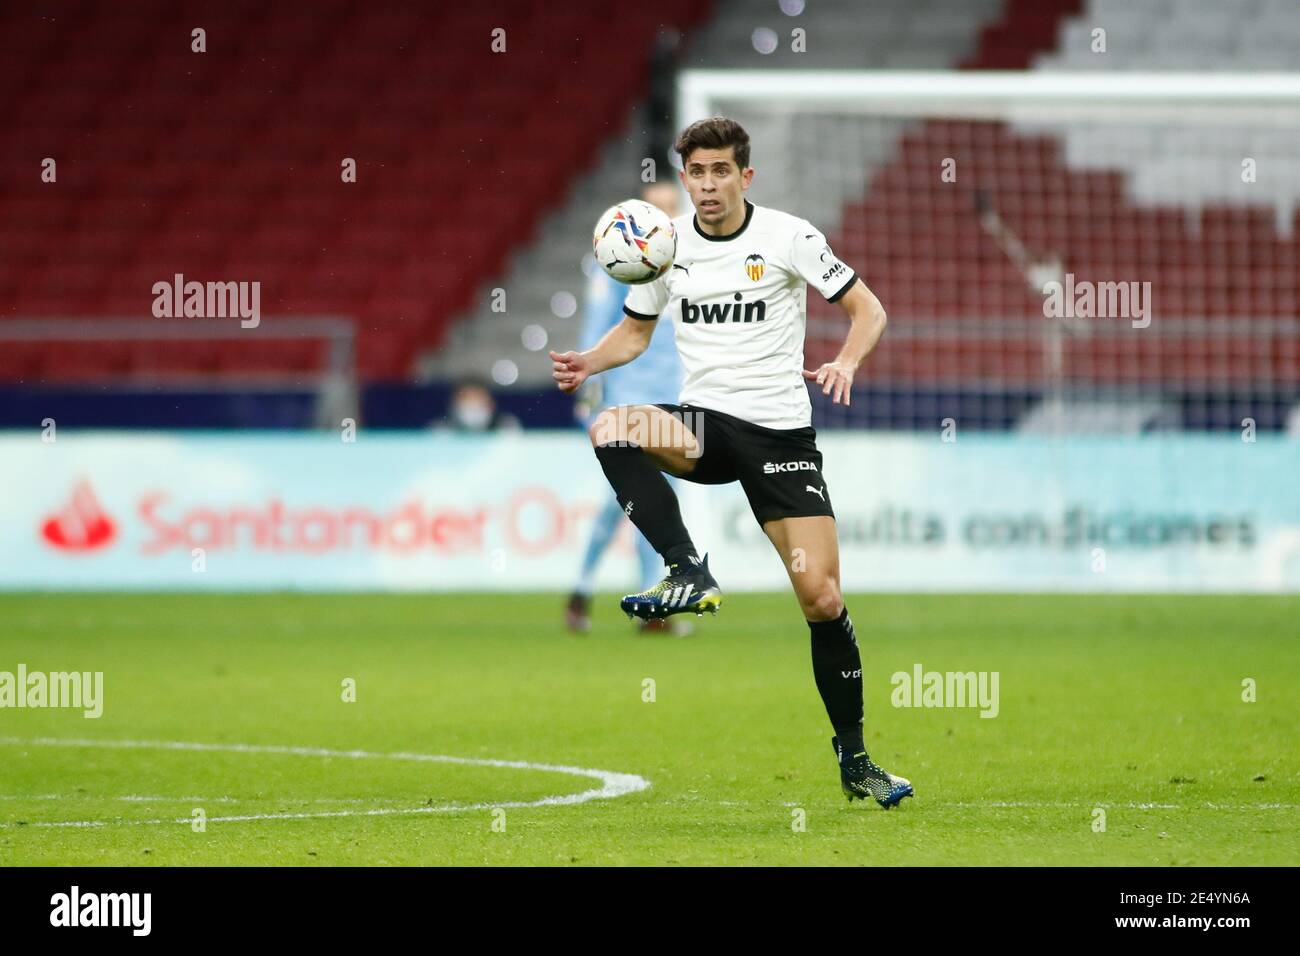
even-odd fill
[[(60, 5), (62, 20), (3, 13), (0, 124), (13, 135), (0, 146), (0, 317), (140, 316), (152, 284), (176, 272), (259, 278), (269, 315), (355, 317), (365, 380), (452, 382), (504, 365), (498, 384), (512, 384), (520, 401), (546, 392), (546, 423), (556, 424), (566, 415), (545, 347), (524, 345), (524, 332), (541, 325), (558, 347), (576, 339), (590, 224), (634, 191), (645, 159), (649, 51), (660, 26), (689, 34), (679, 57), (686, 68), (1300, 66), (1291, 0), (788, 7), (797, 16), (775, 0), (672, 0), (619, 17), (589, 0), (381, 4), (380, 16), (361, 16), (374, 8), (354, 0), (86, 1)], [(486, 36), (502, 12), (526, 27), (510, 34), (499, 70), (467, 75), (469, 60), (448, 38)], [(208, 52), (196, 55), (190, 29), (200, 20)], [(796, 26), (806, 53), (784, 42)], [(1093, 51), (1098, 26), (1104, 55)], [(770, 53), (757, 48), (762, 30), (781, 40)], [(580, 78), (594, 74), (599, 83)], [(1295, 130), (738, 118), (760, 150), (781, 137), (833, 144), (797, 168), (759, 152), (751, 196), (822, 226), (861, 264), (894, 329), (937, 329), (890, 334), (864, 385), (875, 401), (855, 403), (852, 419), (819, 407), (819, 424), (919, 427), (949, 398), (974, 394), (975, 412), (958, 403), (965, 420), (1014, 427), (1041, 405), (1050, 347), (1035, 324), (1041, 300), (982, 232), (976, 191), (1080, 280), (1138, 269), (1158, 287), (1162, 319), (1180, 324), (1136, 343), (1067, 337), (1066, 385), (1130, 389), (1121, 399), (1130, 408), (1132, 388), (1154, 389), (1143, 427), (1225, 427), (1243, 411), (1261, 428), (1282, 427), (1296, 402), (1300, 355), (1284, 325), (1300, 313)], [(58, 157), (57, 186), (35, 174), (32, 156), (47, 155)], [(1243, 155), (1288, 172), (1245, 189), (1225, 176)], [(344, 156), (358, 159), (356, 183), (339, 182)], [(959, 189), (928, 172), (945, 157), (962, 165)], [(668, 174), (670, 157), (654, 159)], [(495, 289), (506, 312), (493, 308)], [(974, 334), (989, 317), (1005, 330)], [(838, 320), (814, 297), (810, 363), (833, 351)], [(256, 377), (317, 368), (321, 351), (320, 341), (14, 343), (0, 350), (0, 382)], [(385, 389), (369, 405), (386, 421), (419, 424), (404, 408), (425, 419), (438, 411)]]

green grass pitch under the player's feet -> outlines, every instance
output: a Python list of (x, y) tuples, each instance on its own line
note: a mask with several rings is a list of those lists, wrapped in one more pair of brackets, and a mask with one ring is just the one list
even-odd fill
[[(790, 594), (681, 639), (615, 602), (572, 636), (542, 594), (0, 596), (0, 671), (104, 672), (99, 719), (0, 709), (0, 865), (1300, 860), (1300, 600), (849, 596), (890, 812), (840, 793)], [(916, 663), (997, 671), (1000, 713), (892, 706)], [(355, 750), (650, 786), (520, 806), (599, 784)]]

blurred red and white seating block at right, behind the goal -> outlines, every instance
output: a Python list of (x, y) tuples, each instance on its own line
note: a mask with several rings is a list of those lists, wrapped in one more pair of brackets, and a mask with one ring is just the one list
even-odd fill
[[(1271, 38), (1294, 35), (1296, 16), (1294, 4), (1274, 0), (1011, 0), (966, 65), (1295, 69), (1296, 51), (1277, 56)], [(1156, 29), (1162, 22), (1178, 29)], [(1106, 27), (1105, 53), (1089, 47), (1097, 26)], [(874, 148), (893, 124), (876, 126)], [(1109, 401), (1115, 427), (1234, 428), (1243, 416), (1284, 427), (1300, 399), (1300, 347), (1287, 324), (1300, 316), (1295, 129), (1231, 117), (1196, 125), (924, 121), (889, 142), (892, 159), (868, 163), (870, 185), (846, 202), (835, 241), (849, 261), (867, 264), (890, 315), (946, 328), (893, 338), (874, 358), (870, 378), (885, 403), (961, 385), (1014, 407), (1008, 424), (1032, 421), (1030, 399), (1043, 397), (1049, 363), (1043, 300), (980, 229), (972, 196), (987, 191), (1031, 251), (1054, 254), (1076, 281), (1140, 276), (1158, 290), (1162, 329), (1174, 334), (1066, 336), (1057, 359), (1065, 388), (1093, 406)], [(1243, 182), (1243, 156), (1274, 174)], [(961, 189), (931, 174), (946, 157), (962, 169)], [(812, 317), (829, 321), (835, 312), (814, 299)], [(980, 334), (991, 317), (1009, 321), (1010, 332)], [(836, 347), (833, 336), (810, 341), (810, 363)], [(1135, 418), (1136, 405), (1147, 411)], [(933, 414), (933, 402), (919, 406), (920, 415), (892, 420), (919, 424)], [(998, 418), (965, 415), (985, 424)]]

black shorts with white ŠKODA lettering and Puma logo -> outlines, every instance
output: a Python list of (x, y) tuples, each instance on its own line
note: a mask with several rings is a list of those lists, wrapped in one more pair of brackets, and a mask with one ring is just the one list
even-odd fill
[(655, 405), (689, 427), (701, 445), (694, 470), (679, 477), (701, 485), (740, 481), (760, 525), (776, 518), (835, 518), (811, 425), (764, 428), (711, 408)]

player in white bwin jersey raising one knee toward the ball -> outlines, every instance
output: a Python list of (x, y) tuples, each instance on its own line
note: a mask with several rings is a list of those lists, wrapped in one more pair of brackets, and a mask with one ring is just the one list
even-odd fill
[[(870, 796), (888, 809), (913, 787), (876, 766), (863, 744), (862, 659), (840, 594), (835, 512), (805, 381), (848, 406), (885, 313), (812, 225), (745, 199), (754, 170), (740, 124), (701, 120), (673, 148), (694, 215), (673, 220), (672, 268), (628, 291), (624, 320), (594, 347), (550, 352), (556, 384), (572, 393), (589, 376), (636, 359), (666, 310), (676, 326), (686, 373), (679, 403), (606, 408), (589, 429), (619, 503), (668, 568), (621, 607), (642, 618), (718, 611), (722, 591), (708, 557), (699, 558), (660, 472), (701, 484), (740, 481), (811, 631), (812, 675), (835, 728), (841, 787), (850, 801)], [(816, 371), (803, 368), (809, 285), (850, 319), (844, 347)]]

